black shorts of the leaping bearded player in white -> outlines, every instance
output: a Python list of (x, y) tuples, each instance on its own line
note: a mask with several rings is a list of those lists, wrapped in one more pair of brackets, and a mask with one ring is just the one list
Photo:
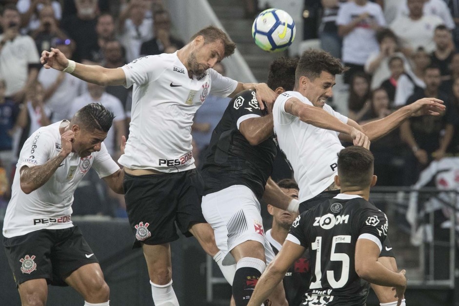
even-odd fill
[(124, 198), (134, 247), (160, 245), (179, 239), (194, 223), (205, 223), (201, 210), (203, 182), (196, 169), (151, 175), (124, 174)]

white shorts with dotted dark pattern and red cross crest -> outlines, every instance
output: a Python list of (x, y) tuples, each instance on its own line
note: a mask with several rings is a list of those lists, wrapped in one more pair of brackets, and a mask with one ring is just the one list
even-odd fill
[(264, 245), (266, 264), (274, 252), (266, 239), (260, 204), (244, 185), (233, 185), (202, 197), (202, 214), (215, 232), (215, 242), (223, 252), (223, 265), (235, 264), (230, 251), (243, 242), (254, 240)]

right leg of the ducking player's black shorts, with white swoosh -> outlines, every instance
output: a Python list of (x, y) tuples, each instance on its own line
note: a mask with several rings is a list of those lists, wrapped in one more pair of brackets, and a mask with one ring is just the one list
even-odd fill
[[(77, 225), (57, 230), (56, 242), (57, 244), (50, 255), (53, 265), (53, 285), (66, 286), (68, 284), (66, 279), (80, 267), (91, 264), (99, 266), (96, 255)], [(96, 275), (99, 276), (96, 278)], [(103, 281), (101, 271), (94, 274), (94, 277), (98, 283)]]

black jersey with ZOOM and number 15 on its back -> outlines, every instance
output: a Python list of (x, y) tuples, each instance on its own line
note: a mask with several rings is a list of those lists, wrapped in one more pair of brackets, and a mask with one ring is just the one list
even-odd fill
[(369, 284), (355, 271), (356, 243), (369, 239), (381, 249), (387, 230), (385, 214), (354, 195), (339, 194), (299, 215), (287, 240), (310, 249), (312, 277), (303, 305), (365, 305)]

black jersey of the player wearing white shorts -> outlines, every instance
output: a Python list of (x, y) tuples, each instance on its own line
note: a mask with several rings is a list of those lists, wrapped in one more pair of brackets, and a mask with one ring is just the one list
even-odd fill
[(263, 115), (253, 90), (242, 91), (229, 102), (204, 155), (204, 195), (232, 185), (245, 185), (261, 198), (278, 152), (277, 143), (273, 135), (251, 145), (239, 132), (239, 124)]

